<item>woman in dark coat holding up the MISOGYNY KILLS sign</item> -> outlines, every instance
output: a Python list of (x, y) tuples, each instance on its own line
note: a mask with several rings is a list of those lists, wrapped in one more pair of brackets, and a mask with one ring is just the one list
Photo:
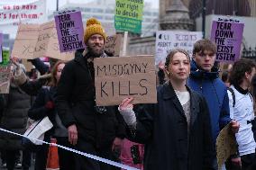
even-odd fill
[(169, 80), (158, 88), (158, 103), (134, 105), (133, 110), (133, 98), (125, 98), (119, 105), (128, 135), (145, 144), (145, 170), (211, 170), (214, 147), (209, 111), (204, 97), (186, 85), (187, 52), (170, 51), (165, 71)]

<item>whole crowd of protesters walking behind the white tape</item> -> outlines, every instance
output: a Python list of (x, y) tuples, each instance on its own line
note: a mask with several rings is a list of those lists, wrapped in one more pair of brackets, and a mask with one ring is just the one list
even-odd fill
[[(53, 124), (44, 134), (48, 142), (54, 138), (61, 146), (138, 169), (217, 170), (216, 138), (230, 123), (238, 148), (225, 168), (256, 169), (253, 61), (236, 61), (221, 79), (215, 43), (198, 40), (192, 58), (173, 49), (160, 63), (157, 103), (133, 104), (131, 96), (119, 105), (96, 106), (94, 58), (112, 56), (104, 50), (105, 39), (101, 23), (87, 20), (86, 49), (78, 49), (69, 62), (50, 59), (50, 67), (32, 59), (42, 75), (35, 80), (12, 58), (10, 91), (0, 94), (0, 127), (23, 134), (30, 121), (48, 116)], [(24, 170), (32, 152), (35, 170), (46, 169), (46, 144), (30, 150), (21, 137), (0, 131), (0, 149), (8, 170), (14, 170), (21, 151)], [(63, 148), (58, 152), (61, 170), (118, 169)]]

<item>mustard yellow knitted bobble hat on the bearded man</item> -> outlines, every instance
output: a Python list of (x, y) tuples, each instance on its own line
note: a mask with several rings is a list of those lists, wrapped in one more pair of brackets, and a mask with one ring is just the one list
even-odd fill
[(87, 20), (87, 29), (85, 32), (84, 40), (87, 42), (87, 40), (90, 38), (90, 36), (94, 34), (100, 34), (104, 37), (105, 40), (105, 30), (102, 27), (101, 23), (96, 20), (96, 18), (90, 18)]

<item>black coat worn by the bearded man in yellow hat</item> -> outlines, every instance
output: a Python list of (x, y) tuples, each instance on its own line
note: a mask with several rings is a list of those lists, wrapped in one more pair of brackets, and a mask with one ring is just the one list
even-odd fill
[(77, 125), (78, 139), (101, 148), (112, 145), (115, 137), (123, 138), (125, 125), (115, 106), (102, 107), (103, 113), (96, 112), (98, 107), (92, 71), (87, 58), (77, 51), (75, 58), (62, 70), (56, 104), (63, 124), (67, 128)]

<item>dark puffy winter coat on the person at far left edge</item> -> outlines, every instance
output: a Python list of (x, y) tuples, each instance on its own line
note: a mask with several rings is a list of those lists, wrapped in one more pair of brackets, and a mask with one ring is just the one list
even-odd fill
[[(10, 87), (10, 93), (4, 95), (4, 108), (0, 127), (23, 134), (26, 130), (28, 110), (31, 106), (31, 97), (18, 87)], [(0, 148), (22, 149), (22, 138), (0, 131)]]

